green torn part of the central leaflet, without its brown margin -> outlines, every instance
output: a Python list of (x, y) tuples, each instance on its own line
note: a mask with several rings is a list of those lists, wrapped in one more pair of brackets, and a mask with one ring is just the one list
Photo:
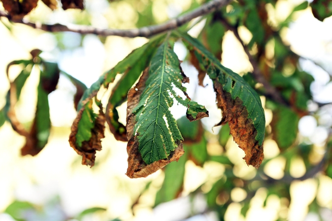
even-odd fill
[[(137, 117), (134, 128), (139, 143), (139, 152), (146, 164), (166, 159), (183, 140), (177, 123), (169, 108), (173, 106), (172, 94), (179, 103), (188, 106), (187, 115), (193, 119), (207, 116), (207, 110), (189, 99), (182, 100), (173, 87), (182, 91), (180, 61), (169, 42), (163, 43), (151, 59), (149, 78), (133, 110)], [(129, 99), (129, 98), (128, 98)], [(203, 116), (203, 117), (204, 117)]]

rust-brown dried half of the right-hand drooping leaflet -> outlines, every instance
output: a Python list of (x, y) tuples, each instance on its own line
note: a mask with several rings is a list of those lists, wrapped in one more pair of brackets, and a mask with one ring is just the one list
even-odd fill
[(217, 106), (222, 111), (222, 119), (218, 125), (228, 122), (235, 142), (244, 151), (243, 158), (247, 165), (259, 168), (263, 159), (263, 144), (256, 140), (257, 130), (252, 119), (248, 118), (248, 111), (239, 97), (233, 99), (231, 94), (224, 91), (222, 84), (214, 82), (217, 96)]

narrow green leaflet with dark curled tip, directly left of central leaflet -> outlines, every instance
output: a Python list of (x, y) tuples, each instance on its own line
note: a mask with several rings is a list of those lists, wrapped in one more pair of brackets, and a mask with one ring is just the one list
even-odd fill
[(123, 72), (121, 79), (112, 89), (112, 94), (106, 107), (106, 121), (114, 137), (118, 140), (127, 141), (127, 137), (125, 126), (119, 122), (119, 113), (116, 108), (127, 100), (129, 89), (140, 77), (142, 71), (149, 66), (151, 57), (163, 38), (164, 35), (153, 38), (149, 43), (137, 49), (135, 56), (130, 58), (130, 60), (127, 59), (128, 63), (125, 64), (125, 66), (130, 65), (130, 68)]

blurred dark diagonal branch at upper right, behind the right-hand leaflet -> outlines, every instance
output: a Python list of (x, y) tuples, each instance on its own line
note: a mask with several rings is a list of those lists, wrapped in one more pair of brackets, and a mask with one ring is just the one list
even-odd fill
[(265, 95), (272, 98), (274, 101), (279, 102), (280, 104), (288, 105), (288, 102), (280, 95), (279, 91), (273, 87), (268, 80), (266, 80), (266, 78), (264, 77), (263, 73), (261, 72), (261, 70), (259, 69), (259, 65), (257, 63), (257, 61), (255, 60), (255, 58), (249, 53), (249, 49), (246, 45), (244, 45), (239, 32), (238, 32), (238, 28), (237, 27), (233, 27), (230, 24), (228, 24), (228, 22), (225, 19), (221, 18), (221, 22), (223, 25), (226, 26), (226, 28), (228, 30), (233, 31), (235, 37), (240, 41), (243, 50), (245, 52), (245, 54), (248, 56), (249, 61), (253, 67), (253, 72), (251, 73), (252, 76), (254, 77), (254, 79), (258, 82), (258, 83), (262, 83), (265, 89)]

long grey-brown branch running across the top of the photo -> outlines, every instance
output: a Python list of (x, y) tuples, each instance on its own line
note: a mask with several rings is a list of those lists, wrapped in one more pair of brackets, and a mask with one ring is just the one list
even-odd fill
[(163, 24), (147, 26), (143, 28), (134, 28), (134, 29), (101, 29), (101, 28), (93, 28), (90, 26), (79, 26), (79, 25), (64, 26), (60, 24), (45, 25), (45, 24), (25, 22), (22, 19), (14, 20), (3, 11), (0, 11), (0, 17), (5, 17), (11, 22), (25, 24), (32, 28), (41, 29), (50, 32), (72, 31), (81, 34), (97, 34), (102, 36), (116, 35), (121, 37), (130, 37), (130, 38), (151, 37), (152, 35), (178, 28), (199, 16), (209, 14), (221, 8), (222, 6), (227, 5), (230, 1), (231, 0), (211, 0), (195, 10), (192, 10), (182, 16), (179, 16), (178, 18), (171, 19)]

